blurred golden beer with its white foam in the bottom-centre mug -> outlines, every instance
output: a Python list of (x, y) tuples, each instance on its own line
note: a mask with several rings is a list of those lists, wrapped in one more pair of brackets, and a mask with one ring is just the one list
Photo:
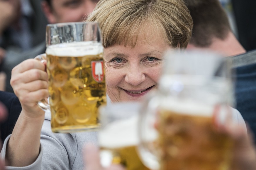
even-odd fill
[(116, 121), (99, 132), (102, 166), (122, 164), (127, 170), (149, 170), (137, 153), (137, 123), (137, 117)]

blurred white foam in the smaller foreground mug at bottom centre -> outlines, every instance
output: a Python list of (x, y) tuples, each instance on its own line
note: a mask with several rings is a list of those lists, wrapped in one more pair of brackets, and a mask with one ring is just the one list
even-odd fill
[(99, 131), (99, 146), (104, 148), (121, 148), (137, 146), (138, 116), (117, 120)]

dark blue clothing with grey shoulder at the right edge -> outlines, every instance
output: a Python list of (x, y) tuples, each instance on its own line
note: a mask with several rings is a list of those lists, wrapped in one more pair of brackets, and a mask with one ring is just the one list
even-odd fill
[(236, 72), (236, 109), (250, 126), (256, 139), (256, 50), (235, 56), (233, 59)]

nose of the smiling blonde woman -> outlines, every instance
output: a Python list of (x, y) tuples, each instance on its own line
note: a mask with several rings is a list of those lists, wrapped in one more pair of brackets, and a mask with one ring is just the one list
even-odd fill
[(145, 79), (145, 73), (139, 66), (130, 67), (125, 76), (125, 81), (133, 86), (140, 85)]

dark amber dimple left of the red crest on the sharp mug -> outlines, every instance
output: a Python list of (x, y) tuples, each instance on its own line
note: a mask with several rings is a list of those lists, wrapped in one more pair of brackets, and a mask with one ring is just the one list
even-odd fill
[(89, 77), (90, 74), (88, 74), (86, 69), (82, 67), (77, 67), (69, 73), (70, 82), (79, 89), (86, 87), (86, 83)]

